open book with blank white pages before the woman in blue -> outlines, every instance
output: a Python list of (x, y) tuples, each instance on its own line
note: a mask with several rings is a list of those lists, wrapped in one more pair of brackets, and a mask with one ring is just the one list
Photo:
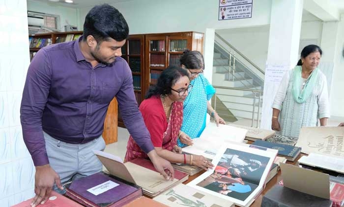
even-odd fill
[(194, 144), (183, 148), (183, 152), (202, 155), (212, 160), (218, 149), (226, 142), (243, 142), (247, 130), (229, 125), (208, 123), (200, 138), (194, 138)]

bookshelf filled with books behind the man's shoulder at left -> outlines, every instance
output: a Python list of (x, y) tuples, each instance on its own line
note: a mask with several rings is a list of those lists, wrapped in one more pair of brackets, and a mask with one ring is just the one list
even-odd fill
[(49, 46), (55, 43), (68, 42), (77, 39), (83, 31), (73, 32), (51, 32), (29, 35), (29, 51), (30, 60), (36, 54), (36, 52), (45, 46)]

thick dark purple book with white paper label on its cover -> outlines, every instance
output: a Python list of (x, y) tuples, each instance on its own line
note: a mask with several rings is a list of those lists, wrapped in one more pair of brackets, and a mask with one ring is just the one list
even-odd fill
[(66, 191), (86, 207), (122, 207), (142, 196), (141, 187), (103, 172), (73, 181)]

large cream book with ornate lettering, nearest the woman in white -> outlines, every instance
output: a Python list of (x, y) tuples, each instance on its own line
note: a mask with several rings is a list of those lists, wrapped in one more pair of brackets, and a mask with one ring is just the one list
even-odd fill
[(344, 157), (344, 127), (302, 127), (296, 146), (311, 152)]

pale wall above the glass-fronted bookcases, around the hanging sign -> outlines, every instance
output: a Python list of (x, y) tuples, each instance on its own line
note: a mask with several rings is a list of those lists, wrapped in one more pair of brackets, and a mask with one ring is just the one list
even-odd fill
[[(218, 21), (216, 0), (135, 0), (113, 3), (129, 24), (130, 34), (179, 31), (205, 32), (206, 28), (265, 25), (270, 21), (271, 0), (253, 4), (252, 18)], [(91, 7), (80, 9), (80, 21)]]

